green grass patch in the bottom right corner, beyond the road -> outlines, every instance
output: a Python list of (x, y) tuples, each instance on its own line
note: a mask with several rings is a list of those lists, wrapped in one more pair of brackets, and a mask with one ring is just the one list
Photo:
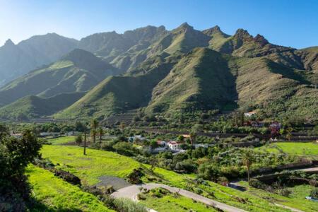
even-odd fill
[(292, 192), (290, 196), (285, 197), (278, 194), (273, 194), (270, 192), (265, 192), (261, 189), (255, 189), (249, 187), (247, 182), (240, 182), (244, 187), (247, 187), (247, 194), (252, 194), (254, 196), (259, 196), (262, 199), (269, 199), (269, 201), (275, 201), (277, 204), (290, 206), (292, 208), (298, 208), (302, 211), (317, 211), (318, 203), (314, 201), (309, 201), (305, 199), (309, 196), (312, 187), (310, 185), (297, 185), (295, 187), (289, 187), (288, 189)]

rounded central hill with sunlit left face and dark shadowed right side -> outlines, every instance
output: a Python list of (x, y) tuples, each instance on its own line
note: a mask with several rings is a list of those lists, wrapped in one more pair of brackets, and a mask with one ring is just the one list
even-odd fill
[(151, 112), (221, 109), (236, 99), (235, 78), (223, 56), (194, 49), (153, 89)]

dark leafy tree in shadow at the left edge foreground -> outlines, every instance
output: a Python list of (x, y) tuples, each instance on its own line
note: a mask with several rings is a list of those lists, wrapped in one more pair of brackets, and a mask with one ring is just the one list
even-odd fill
[(23, 200), (30, 197), (25, 167), (40, 156), (41, 143), (30, 130), (23, 132), (22, 139), (3, 133), (2, 126), (0, 131), (1, 203), (9, 207), (8, 211), (25, 211)]

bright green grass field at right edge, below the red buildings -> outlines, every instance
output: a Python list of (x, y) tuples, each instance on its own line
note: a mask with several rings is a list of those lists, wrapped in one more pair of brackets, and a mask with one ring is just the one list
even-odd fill
[(302, 155), (308, 158), (318, 159), (318, 143), (296, 143), (296, 142), (282, 142), (270, 143), (261, 146), (259, 149), (273, 153), (283, 151), (290, 155)]

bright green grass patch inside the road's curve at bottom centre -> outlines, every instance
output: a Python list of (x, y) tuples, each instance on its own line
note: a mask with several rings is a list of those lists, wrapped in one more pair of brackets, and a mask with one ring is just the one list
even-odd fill
[(142, 204), (160, 212), (186, 212), (191, 210), (198, 212), (216, 211), (211, 206), (206, 206), (205, 204), (178, 194), (172, 194), (165, 189), (151, 189), (150, 192), (140, 194), (139, 196), (139, 199), (142, 198)]

